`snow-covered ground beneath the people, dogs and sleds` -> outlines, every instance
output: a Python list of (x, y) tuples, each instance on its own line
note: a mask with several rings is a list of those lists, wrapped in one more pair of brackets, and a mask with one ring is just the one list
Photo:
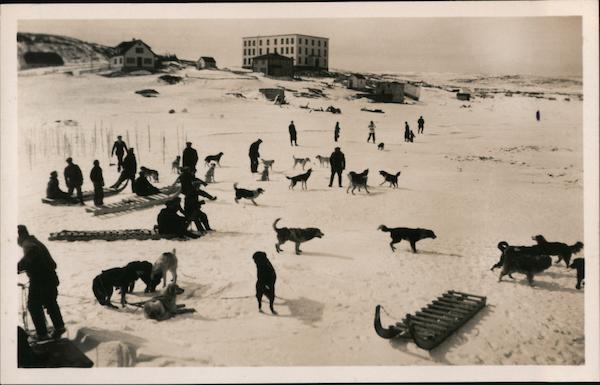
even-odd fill
[[(59, 266), (59, 304), (68, 336), (97, 366), (584, 363), (584, 291), (575, 289), (574, 270), (553, 265), (536, 276), (535, 287), (521, 274), (498, 283), (498, 271), (490, 271), (502, 240), (525, 245), (543, 234), (569, 244), (583, 241), (581, 101), (496, 95), (463, 102), (425, 88), (420, 102), (370, 104), (351, 98), (354, 92), (339, 85), (325, 87), (323, 82), (332, 84), (332, 79), (292, 82), (195, 69), (177, 74), (185, 77), (177, 85), (159, 82), (158, 75), (18, 79), (19, 222), (42, 240), (63, 229), (150, 229), (155, 224), (160, 207), (93, 217), (78, 206), (40, 202), (50, 171), (59, 171), (64, 188), (68, 155), (81, 166), (85, 189), (91, 189), (94, 159), (100, 160), (107, 183), (117, 178), (116, 167), (108, 165), (107, 132), (109, 144), (122, 134), (136, 148), (138, 165), (159, 170), (161, 184), (174, 180), (170, 164), (186, 138), (201, 158), (225, 153), (217, 183), (208, 188), (218, 200), (205, 206), (214, 233), (186, 242), (46, 242)], [(286, 91), (290, 104), (279, 107), (258, 92), (275, 86), (322, 88), (328, 98), (297, 98)], [(160, 95), (134, 93), (144, 88)], [(342, 114), (299, 108), (307, 103), (333, 105)], [(176, 112), (169, 114), (170, 109)], [(404, 122), (416, 133), (420, 115), (425, 133), (404, 143)], [(77, 125), (65, 125), (69, 119)], [(298, 130), (294, 148), (287, 133), (291, 120)], [(385, 151), (366, 143), (370, 120)], [(368, 168), (370, 195), (329, 188), (329, 170), (314, 159), (332, 152), (336, 121), (346, 172)], [(249, 171), (248, 146), (257, 138), (263, 140), (262, 157), (275, 160), (270, 182), (258, 182)], [(71, 153), (57, 147), (65, 139)], [(307, 191), (288, 189), (285, 176), (301, 172), (292, 168), (293, 155), (313, 161)], [(380, 187), (379, 170), (401, 171), (400, 188)], [(234, 182), (264, 188), (259, 205), (235, 204)], [(347, 186), (345, 176), (343, 183)], [(106, 202), (129, 196), (129, 188), (125, 191)], [(325, 236), (303, 244), (302, 255), (295, 255), (289, 243), (277, 254), (272, 223), (279, 217), (280, 226), (319, 227)], [(389, 235), (377, 231), (381, 224), (430, 228), (437, 239), (419, 242), (417, 254), (406, 243), (392, 252)], [(140, 310), (98, 305), (91, 285), (102, 269), (133, 260), (153, 262), (173, 248), (178, 283), (185, 289), (178, 301), (195, 308), (195, 314), (159, 323)], [(251, 258), (257, 250), (265, 251), (277, 270), (279, 316), (257, 310)], [(138, 283), (128, 299), (147, 298), (139, 292), (142, 287)], [(487, 296), (489, 305), (437, 349), (426, 352), (375, 334), (375, 305), (386, 309), (382, 319), (388, 325), (449, 289)], [(113, 299), (118, 302), (117, 295)]]

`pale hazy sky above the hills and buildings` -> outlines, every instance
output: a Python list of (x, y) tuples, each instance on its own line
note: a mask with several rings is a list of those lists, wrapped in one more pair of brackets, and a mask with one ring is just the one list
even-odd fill
[(328, 37), (330, 69), (364, 72), (582, 75), (581, 17), (21, 20), (19, 32), (116, 46), (142, 39), (157, 54), (213, 56), (240, 67), (243, 36)]

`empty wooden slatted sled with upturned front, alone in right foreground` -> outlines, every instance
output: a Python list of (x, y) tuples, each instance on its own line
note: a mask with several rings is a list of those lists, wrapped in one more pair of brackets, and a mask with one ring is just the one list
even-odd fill
[(401, 322), (384, 328), (381, 305), (375, 307), (375, 332), (385, 339), (412, 339), (421, 349), (431, 350), (464, 325), (486, 305), (486, 297), (449, 290), (426, 307), (407, 314)]

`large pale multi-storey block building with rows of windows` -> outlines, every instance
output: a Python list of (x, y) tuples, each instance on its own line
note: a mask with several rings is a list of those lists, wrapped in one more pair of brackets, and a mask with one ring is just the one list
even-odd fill
[(242, 67), (252, 68), (252, 58), (268, 53), (291, 58), (296, 69), (329, 68), (329, 39), (326, 37), (289, 34), (242, 38)]

